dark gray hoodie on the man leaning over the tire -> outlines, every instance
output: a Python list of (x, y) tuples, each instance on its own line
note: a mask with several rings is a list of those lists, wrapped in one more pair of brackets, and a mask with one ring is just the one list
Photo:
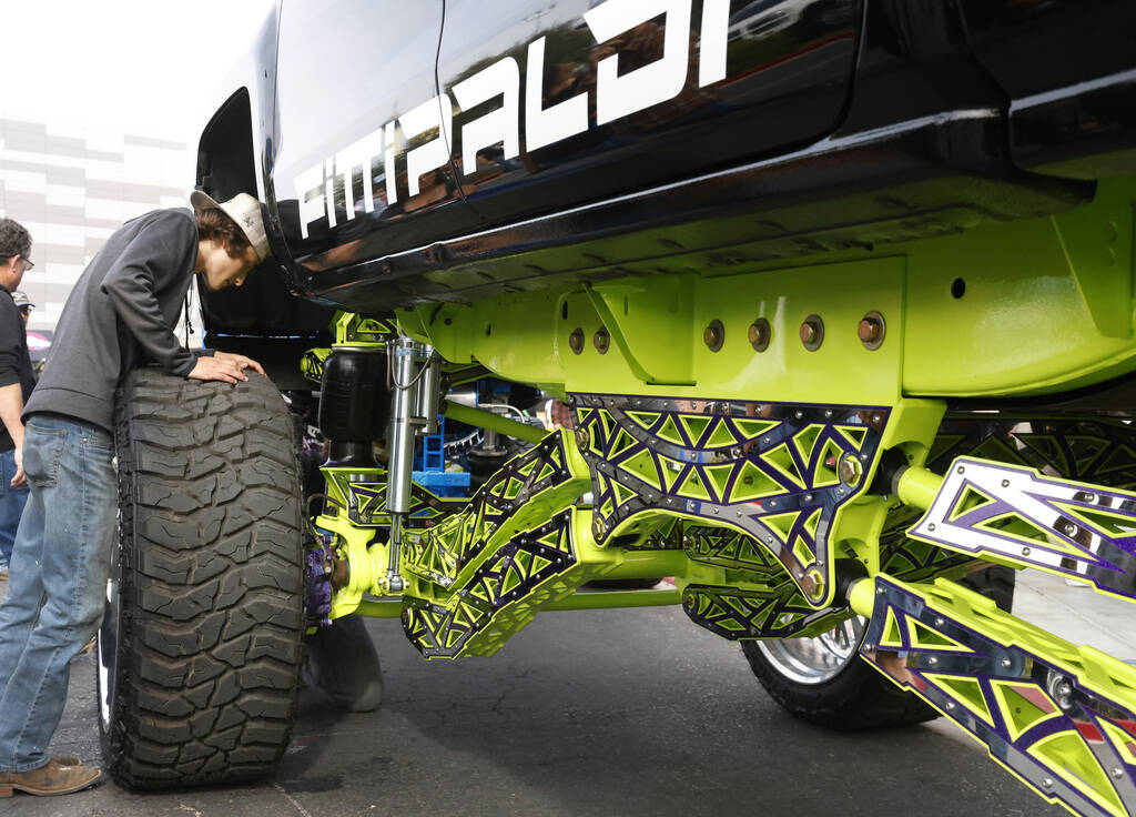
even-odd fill
[(197, 258), (192, 210), (153, 210), (115, 231), (67, 298), (24, 420), (47, 411), (112, 432), (115, 389), (127, 372), (157, 362), (185, 377), (197, 355), (174, 327)]

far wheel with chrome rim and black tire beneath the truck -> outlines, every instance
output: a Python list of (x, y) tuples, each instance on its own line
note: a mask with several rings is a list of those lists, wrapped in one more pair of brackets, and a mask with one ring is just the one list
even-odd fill
[[(1010, 611), (1014, 572), (988, 567), (962, 580)], [(795, 717), (841, 732), (905, 726), (938, 712), (859, 657), (867, 627), (854, 617), (815, 639), (743, 641), (742, 651), (766, 691)]]

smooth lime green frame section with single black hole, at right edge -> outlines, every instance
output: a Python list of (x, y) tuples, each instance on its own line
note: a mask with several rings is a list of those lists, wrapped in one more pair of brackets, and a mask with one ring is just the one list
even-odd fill
[(904, 391), (1029, 394), (1131, 372), (1134, 199), (1134, 180), (1104, 180), (1074, 212), (901, 248)]

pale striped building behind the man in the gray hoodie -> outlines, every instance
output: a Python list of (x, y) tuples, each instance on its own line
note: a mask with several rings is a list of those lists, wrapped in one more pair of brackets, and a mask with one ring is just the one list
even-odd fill
[(0, 216), (35, 242), (35, 269), (20, 284), (36, 305), (28, 330), (55, 330), (75, 281), (123, 222), (187, 207), (192, 174), (182, 142), (0, 119)]

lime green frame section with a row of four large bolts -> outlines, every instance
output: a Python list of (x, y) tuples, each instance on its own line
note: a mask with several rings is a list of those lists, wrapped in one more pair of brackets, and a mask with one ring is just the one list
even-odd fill
[[(448, 360), (475, 359), (502, 377), (560, 393), (888, 406), (901, 394), (904, 274), (902, 259), (880, 258), (808, 275), (660, 275), (586, 291), (520, 292), (508, 302), (435, 305), (400, 320), (423, 326), (420, 340)], [(886, 316), (888, 336), (872, 351), (857, 327), (874, 310)], [(812, 314), (826, 326), (817, 351), (799, 336)], [(747, 340), (757, 318), (772, 327), (763, 352)], [(713, 320), (725, 328), (717, 352), (703, 342)], [(577, 330), (578, 355), (569, 342)], [(595, 343), (601, 330), (613, 339), (605, 352)]]

